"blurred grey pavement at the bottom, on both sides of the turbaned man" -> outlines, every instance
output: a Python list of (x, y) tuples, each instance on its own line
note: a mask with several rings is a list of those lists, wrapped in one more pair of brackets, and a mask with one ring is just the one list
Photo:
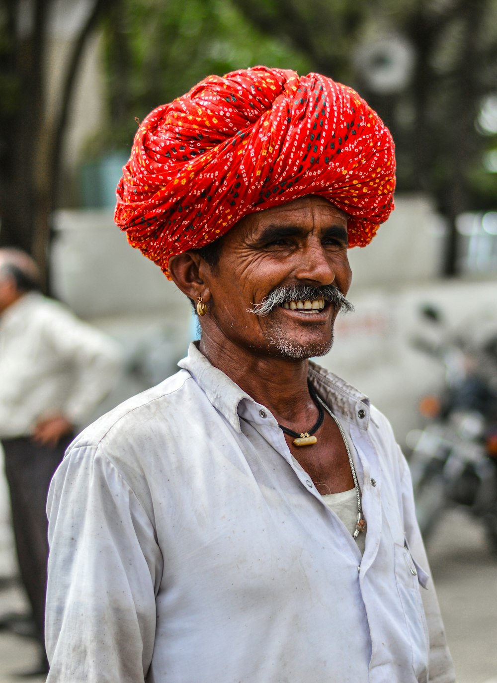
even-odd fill
[[(457, 683), (497, 683), (497, 555), (483, 528), (462, 512), (448, 513), (428, 552)], [(24, 611), (18, 587), (0, 585), (0, 618)], [(0, 630), (0, 683), (42, 683), (44, 676), (18, 675), (33, 669), (37, 656), (29, 638)]]

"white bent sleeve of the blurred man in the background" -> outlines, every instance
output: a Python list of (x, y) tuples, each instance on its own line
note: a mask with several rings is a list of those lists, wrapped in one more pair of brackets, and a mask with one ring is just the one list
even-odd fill
[(46, 334), (57, 357), (72, 369), (63, 413), (74, 425), (81, 425), (114, 387), (122, 369), (122, 352), (113, 339), (70, 311), (61, 307), (54, 312)]

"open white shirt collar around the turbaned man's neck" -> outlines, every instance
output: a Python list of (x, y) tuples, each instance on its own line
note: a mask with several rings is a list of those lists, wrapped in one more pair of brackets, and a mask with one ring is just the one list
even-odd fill
[[(190, 344), (188, 356), (178, 365), (190, 373), (214, 408), (229, 421), (233, 429), (240, 432), (240, 417), (238, 417), (240, 403), (248, 402), (253, 406), (259, 406), (259, 404), (222, 370), (211, 365), (199, 351), (197, 344), (198, 342)], [(337, 417), (356, 422), (359, 410), (364, 410), (365, 415), (360, 419), (360, 425), (367, 428), (370, 402), (365, 394), (312, 361), (309, 361), (309, 379)]]

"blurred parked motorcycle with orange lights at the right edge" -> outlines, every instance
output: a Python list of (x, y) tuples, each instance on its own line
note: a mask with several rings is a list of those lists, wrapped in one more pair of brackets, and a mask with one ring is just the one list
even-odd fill
[(462, 506), (485, 526), (497, 553), (497, 344), (469, 350), (444, 331), (437, 309), (425, 307), (422, 314), (442, 337), (436, 344), (418, 337), (413, 344), (445, 372), (442, 391), (419, 404), (424, 428), (407, 438), (418, 524), (427, 542), (444, 511)]

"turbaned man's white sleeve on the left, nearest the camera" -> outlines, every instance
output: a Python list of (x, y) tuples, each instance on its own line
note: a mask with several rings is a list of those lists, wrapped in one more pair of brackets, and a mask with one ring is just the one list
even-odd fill
[(95, 447), (48, 494), (47, 683), (139, 683), (152, 660), (162, 555), (137, 497)]

